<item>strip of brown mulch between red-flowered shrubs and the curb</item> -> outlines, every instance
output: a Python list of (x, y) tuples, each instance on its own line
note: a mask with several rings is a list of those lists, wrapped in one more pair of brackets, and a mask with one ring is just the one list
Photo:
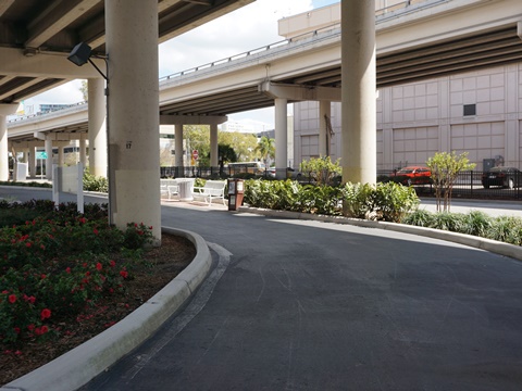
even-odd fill
[(107, 297), (76, 319), (60, 324), (67, 331), (58, 340), (28, 341), (17, 349), (0, 344), (0, 384), (28, 374), (123, 319), (176, 277), (195, 256), (196, 249), (188, 239), (163, 234), (161, 247), (146, 255), (152, 267), (136, 270), (135, 278), (125, 285), (125, 295)]

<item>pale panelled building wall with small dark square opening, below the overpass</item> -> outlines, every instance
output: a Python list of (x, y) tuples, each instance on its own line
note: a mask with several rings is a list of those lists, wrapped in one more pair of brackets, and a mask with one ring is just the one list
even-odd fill
[[(435, 152), (467, 152), (476, 169), (522, 168), (522, 63), (382, 88), (377, 169), (423, 165)], [(319, 102), (294, 104), (296, 163), (319, 156)], [(333, 160), (341, 155), (340, 103), (332, 103)]]

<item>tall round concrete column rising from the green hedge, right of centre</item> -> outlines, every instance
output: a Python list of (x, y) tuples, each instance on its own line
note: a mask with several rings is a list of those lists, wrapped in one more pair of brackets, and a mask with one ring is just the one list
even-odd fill
[(343, 181), (376, 182), (375, 0), (341, 1)]

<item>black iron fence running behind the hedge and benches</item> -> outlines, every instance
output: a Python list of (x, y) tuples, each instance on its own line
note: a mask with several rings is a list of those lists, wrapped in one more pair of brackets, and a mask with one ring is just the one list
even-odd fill
[[(377, 181), (398, 180), (396, 171), (378, 171)], [(522, 200), (522, 173), (515, 173), (512, 180), (512, 187), (506, 182), (506, 186), (483, 186), (483, 177), (487, 176), (487, 172), (462, 172), (457, 176), (452, 188), (453, 198), (465, 199), (490, 199), (490, 200)], [(204, 178), (204, 179), (226, 179), (239, 177), (249, 178), (291, 178), (302, 184), (313, 182), (309, 177), (293, 169), (279, 169), (277, 173), (274, 168), (254, 171), (245, 169), (244, 167), (160, 167), (161, 178)], [(435, 189), (430, 180), (412, 180), (413, 188), (419, 195), (435, 195)]]

